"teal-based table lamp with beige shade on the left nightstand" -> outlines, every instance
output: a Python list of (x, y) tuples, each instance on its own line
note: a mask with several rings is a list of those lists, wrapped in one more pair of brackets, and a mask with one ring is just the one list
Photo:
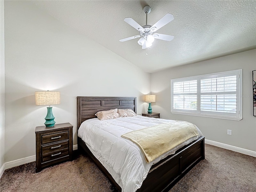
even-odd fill
[(55, 124), (54, 116), (52, 114), (51, 105), (60, 104), (60, 92), (59, 91), (36, 91), (36, 105), (48, 105), (47, 115), (45, 119), (46, 127), (53, 127)]

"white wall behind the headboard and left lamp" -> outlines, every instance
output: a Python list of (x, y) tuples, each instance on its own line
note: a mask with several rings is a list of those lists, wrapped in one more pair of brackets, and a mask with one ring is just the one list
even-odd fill
[(34, 92), (57, 90), (56, 123), (70, 122), (77, 144), (76, 96), (136, 96), (145, 112), (150, 74), (76, 33), (27, 1), (5, 1), (5, 162), (35, 155), (46, 106)]

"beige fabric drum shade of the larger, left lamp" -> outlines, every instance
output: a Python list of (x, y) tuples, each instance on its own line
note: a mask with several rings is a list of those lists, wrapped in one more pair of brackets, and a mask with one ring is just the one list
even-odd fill
[(36, 105), (58, 105), (60, 104), (59, 91), (36, 91)]

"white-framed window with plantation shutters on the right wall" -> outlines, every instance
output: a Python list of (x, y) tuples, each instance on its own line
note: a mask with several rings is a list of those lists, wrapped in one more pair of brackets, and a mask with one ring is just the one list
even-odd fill
[(242, 119), (242, 69), (171, 80), (171, 112)]

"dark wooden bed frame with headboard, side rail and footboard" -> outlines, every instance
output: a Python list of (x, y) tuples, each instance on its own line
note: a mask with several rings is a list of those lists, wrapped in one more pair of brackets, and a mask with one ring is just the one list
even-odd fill
[[(110, 109), (132, 109), (136, 112), (136, 98), (134, 97), (77, 97), (77, 125), (80, 128), (82, 122), (96, 118), (98, 111)], [(78, 150), (83, 150), (94, 160), (96, 165), (106, 174), (109, 180), (119, 191), (122, 188), (104, 165), (96, 158), (90, 147), (78, 137)], [(204, 159), (204, 136), (187, 144), (162, 160), (152, 164), (144, 179), (142, 186), (136, 192), (164, 192), (168, 191), (180, 178), (182, 178), (200, 160)]]

